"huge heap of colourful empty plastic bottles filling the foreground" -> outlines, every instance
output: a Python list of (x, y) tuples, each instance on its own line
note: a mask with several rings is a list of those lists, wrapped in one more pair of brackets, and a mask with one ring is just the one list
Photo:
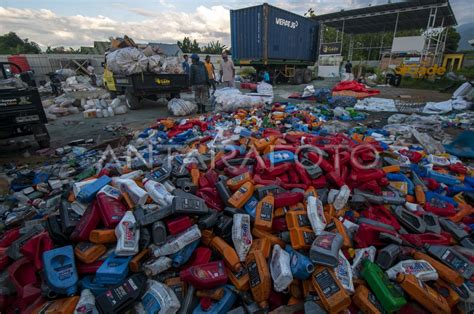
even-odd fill
[(1, 312), (473, 310), (474, 169), (385, 130), (273, 104), (2, 172)]

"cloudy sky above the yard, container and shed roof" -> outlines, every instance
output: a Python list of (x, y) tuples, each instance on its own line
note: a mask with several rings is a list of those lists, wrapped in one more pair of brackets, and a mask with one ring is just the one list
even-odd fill
[[(393, 1), (393, 0), (392, 0)], [(450, 0), (459, 24), (474, 21), (474, 0)], [(267, 0), (303, 14), (350, 9), (387, 0)], [(14, 31), (47, 46), (92, 46), (94, 40), (127, 34), (137, 42), (175, 43), (190, 36), (199, 43), (229, 44), (229, 9), (263, 2), (247, 0), (0, 0), (0, 34)]]

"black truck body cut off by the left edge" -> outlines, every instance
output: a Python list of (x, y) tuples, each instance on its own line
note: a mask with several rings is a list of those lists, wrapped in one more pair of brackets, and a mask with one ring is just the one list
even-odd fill
[[(13, 78), (12, 67), (18, 69), (24, 87), (2, 84)], [(48, 120), (32, 73), (11, 62), (0, 62), (0, 72), (0, 139), (34, 135), (41, 148), (49, 147)]]

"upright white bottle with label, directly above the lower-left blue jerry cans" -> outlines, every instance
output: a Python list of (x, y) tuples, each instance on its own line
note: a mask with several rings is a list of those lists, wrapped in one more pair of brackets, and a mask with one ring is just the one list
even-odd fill
[(117, 237), (115, 254), (118, 256), (132, 256), (138, 253), (140, 228), (131, 211), (127, 211), (115, 227), (115, 236)]

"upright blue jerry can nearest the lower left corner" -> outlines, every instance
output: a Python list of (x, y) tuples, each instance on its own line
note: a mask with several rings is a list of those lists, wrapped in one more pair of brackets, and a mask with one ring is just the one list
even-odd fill
[(77, 270), (71, 245), (43, 253), (44, 274), (48, 286), (58, 294), (77, 291)]

